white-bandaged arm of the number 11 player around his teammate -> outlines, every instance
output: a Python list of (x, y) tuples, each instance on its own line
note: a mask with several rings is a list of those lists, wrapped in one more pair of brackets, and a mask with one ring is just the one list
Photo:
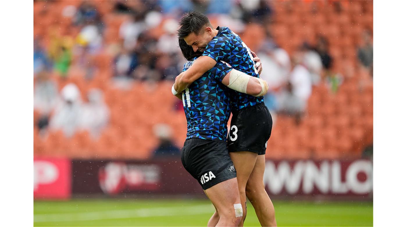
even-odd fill
[(256, 97), (264, 96), (267, 90), (269, 90), (269, 85), (265, 80), (252, 77), (236, 69), (232, 69), (225, 75), (222, 79), (222, 84), (232, 90)]

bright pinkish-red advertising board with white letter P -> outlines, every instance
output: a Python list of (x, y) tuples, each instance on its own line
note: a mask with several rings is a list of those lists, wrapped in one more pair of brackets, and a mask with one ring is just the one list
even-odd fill
[(69, 159), (34, 159), (34, 198), (67, 199), (71, 196)]

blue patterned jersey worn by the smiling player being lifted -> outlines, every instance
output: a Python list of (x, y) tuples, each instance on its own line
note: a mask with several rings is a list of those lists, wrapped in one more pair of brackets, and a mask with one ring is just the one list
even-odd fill
[[(217, 27), (218, 34), (208, 43), (202, 56), (208, 56), (216, 62), (224, 61), (232, 68), (247, 75), (259, 77), (254, 66), (253, 55), (250, 48), (228, 27)], [(264, 101), (262, 97), (254, 97), (237, 91), (231, 91), (230, 101), (232, 111), (240, 110), (247, 106), (254, 106)]]

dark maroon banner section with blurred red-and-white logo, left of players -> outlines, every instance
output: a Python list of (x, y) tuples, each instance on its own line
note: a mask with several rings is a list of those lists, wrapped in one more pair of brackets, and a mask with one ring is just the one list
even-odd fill
[(74, 194), (203, 194), (178, 159), (73, 160)]

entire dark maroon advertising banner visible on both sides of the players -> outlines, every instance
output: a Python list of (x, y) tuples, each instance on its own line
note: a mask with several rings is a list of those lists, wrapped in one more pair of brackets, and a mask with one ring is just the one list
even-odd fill
[[(369, 199), (373, 163), (266, 160), (264, 183), (270, 196), (326, 196)], [(204, 196), (178, 159), (154, 161), (72, 161), (73, 194), (171, 194)]]

